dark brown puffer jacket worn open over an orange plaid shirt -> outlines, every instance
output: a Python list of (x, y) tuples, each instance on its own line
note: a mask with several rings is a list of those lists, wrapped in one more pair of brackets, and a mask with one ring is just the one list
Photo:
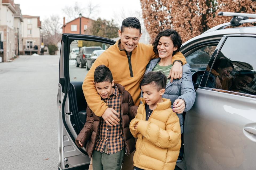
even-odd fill
[[(123, 128), (123, 136), (125, 139), (125, 147), (126, 147), (126, 155), (129, 155), (131, 152), (135, 150), (135, 139), (130, 132), (129, 124), (130, 121), (135, 117), (137, 113), (136, 106), (133, 106), (133, 98), (129, 94), (128, 91), (121, 84), (116, 84), (118, 90), (121, 92), (121, 118), (122, 118), (122, 128)], [(86, 109), (86, 122), (75, 139), (75, 143), (78, 147), (81, 147), (78, 141), (81, 141), (82, 145), (85, 146), (86, 152), (89, 157), (92, 157), (92, 153), (97, 142), (98, 132), (99, 132), (99, 122), (101, 117), (96, 116), (91, 109), (87, 106)], [(89, 140), (89, 141), (88, 141)], [(88, 141), (88, 142), (87, 142)], [(86, 143), (87, 142), (87, 143)]]

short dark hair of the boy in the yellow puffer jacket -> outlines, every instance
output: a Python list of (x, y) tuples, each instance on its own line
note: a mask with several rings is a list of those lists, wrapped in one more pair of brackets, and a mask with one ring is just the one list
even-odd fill
[(141, 89), (141, 86), (145, 86), (147, 84), (154, 84), (157, 90), (159, 91), (161, 89), (165, 89), (166, 81), (166, 76), (160, 71), (150, 71), (142, 78), (141, 82), (139, 83), (139, 88)]

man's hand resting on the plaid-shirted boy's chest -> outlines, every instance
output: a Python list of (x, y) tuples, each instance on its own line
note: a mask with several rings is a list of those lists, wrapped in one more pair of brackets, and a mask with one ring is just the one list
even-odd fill
[(112, 108), (107, 108), (105, 110), (105, 112), (102, 114), (102, 118), (105, 120), (105, 122), (109, 125), (109, 126), (116, 126), (118, 125), (118, 122), (120, 121), (116, 115), (119, 115), (119, 113), (117, 113), (117, 111), (115, 111)]

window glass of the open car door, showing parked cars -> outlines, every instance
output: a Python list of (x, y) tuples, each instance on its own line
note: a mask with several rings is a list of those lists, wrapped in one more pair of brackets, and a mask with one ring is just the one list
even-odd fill
[[(78, 47), (78, 41), (73, 41), (70, 44), (70, 49), (80, 48), (74, 51), (79, 51), (79, 54), (72, 54), (69, 58), (69, 78), (70, 82), (83, 81), (85, 79), (88, 70), (90, 70), (96, 58), (89, 58), (92, 53), (95, 54), (94, 50), (104, 50), (110, 45), (93, 42), (93, 41), (82, 41), (83, 46)], [(104, 48), (104, 49), (103, 49)], [(89, 60), (87, 61), (87, 59)]]

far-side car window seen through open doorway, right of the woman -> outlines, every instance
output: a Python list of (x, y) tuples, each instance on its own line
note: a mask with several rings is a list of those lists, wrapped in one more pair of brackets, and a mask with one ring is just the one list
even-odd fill
[(186, 57), (187, 63), (191, 67), (191, 72), (205, 70), (216, 45), (204, 46)]

